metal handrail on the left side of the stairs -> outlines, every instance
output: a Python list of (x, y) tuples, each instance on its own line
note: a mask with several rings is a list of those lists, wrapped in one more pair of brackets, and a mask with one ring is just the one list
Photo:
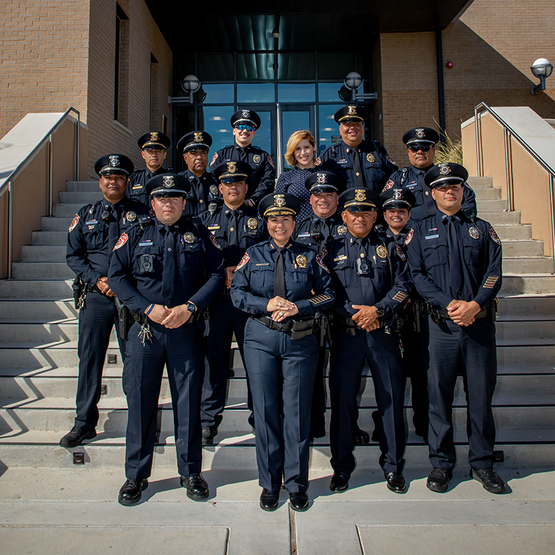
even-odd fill
[(0, 187), (0, 197), (3, 196), (4, 193), (8, 192), (10, 196), (10, 200), (8, 203), (8, 280), (12, 279), (12, 256), (13, 256), (13, 185), (15, 180), (19, 177), (19, 173), (21, 173), (31, 160), (37, 155), (40, 149), (44, 146), (46, 142), (49, 142), (49, 176), (48, 176), (48, 198), (49, 198), (49, 216), (52, 216), (53, 213), (53, 181), (54, 181), (54, 155), (53, 155), (53, 139), (54, 133), (60, 128), (62, 123), (65, 123), (67, 116), (70, 112), (75, 112), (77, 114), (77, 144), (76, 144), (76, 181), (80, 178), (79, 172), (79, 163), (80, 163), (80, 112), (73, 108), (68, 108), (64, 114), (58, 119), (58, 121), (52, 126), (51, 130), (49, 130), (44, 138), (33, 148), (31, 153), (29, 153), (25, 160), (23, 160), (17, 168), (10, 173), (8, 179), (3, 182), (3, 185)]

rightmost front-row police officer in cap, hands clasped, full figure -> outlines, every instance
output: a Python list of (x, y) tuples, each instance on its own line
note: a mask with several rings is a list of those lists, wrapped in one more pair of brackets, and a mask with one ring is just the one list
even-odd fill
[(470, 475), (490, 493), (503, 493), (493, 470), (495, 423), (491, 400), (497, 375), (495, 296), (501, 288), (501, 241), (491, 225), (461, 210), (468, 172), (459, 164), (438, 164), (424, 180), (438, 205), (415, 223), (407, 240), (409, 264), (418, 293), (429, 302), (424, 332), (429, 394), (427, 486), (447, 490), (455, 464), (452, 402), (462, 373), (468, 405)]

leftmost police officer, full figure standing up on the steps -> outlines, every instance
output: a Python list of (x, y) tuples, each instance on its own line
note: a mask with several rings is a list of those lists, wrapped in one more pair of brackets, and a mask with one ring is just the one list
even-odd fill
[[(109, 154), (96, 160), (102, 198), (81, 208), (69, 226), (67, 265), (78, 275), (79, 377), (77, 416), (74, 427), (60, 440), (62, 447), (76, 447), (96, 436), (101, 395), (102, 369), (110, 333), (118, 324), (114, 293), (108, 286), (108, 265), (120, 233), (141, 214), (144, 205), (126, 197), (133, 162), (121, 154)], [(124, 341), (118, 335), (121, 357)]]

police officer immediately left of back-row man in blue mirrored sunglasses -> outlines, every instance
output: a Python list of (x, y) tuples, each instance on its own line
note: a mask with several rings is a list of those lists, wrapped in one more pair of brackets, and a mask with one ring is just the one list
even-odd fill
[(179, 173), (191, 183), (191, 191), (187, 196), (185, 213), (198, 216), (205, 210), (216, 210), (221, 204), (218, 182), (206, 171), (208, 165), (208, 151), (212, 145), (210, 133), (192, 131), (181, 137), (178, 142), (178, 153), (183, 155), (187, 169)]

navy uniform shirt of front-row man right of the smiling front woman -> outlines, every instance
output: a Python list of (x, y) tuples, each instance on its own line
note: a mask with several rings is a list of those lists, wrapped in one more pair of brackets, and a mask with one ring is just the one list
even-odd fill
[[(347, 232), (332, 241), (324, 257), (337, 296), (334, 310), (342, 316), (353, 316), (358, 311), (352, 305), (379, 304), (384, 317), (391, 318), (404, 307), (412, 287), (406, 257), (395, 241), (382, 241), (374, 230), (364, 238), (363, 246), (355, 239)], [(357, 259), (370, 265), (366, 275), (358, 275)]]

